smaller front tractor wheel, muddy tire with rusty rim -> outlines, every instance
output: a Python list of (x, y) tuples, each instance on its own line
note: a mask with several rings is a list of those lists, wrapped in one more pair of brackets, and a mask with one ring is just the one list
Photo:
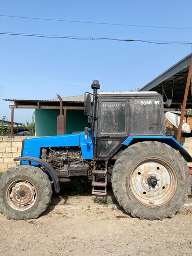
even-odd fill
[(0, 211), (8, 219), (36, 219), (47, 209), (51, 196), (47, 174), (34, 166), (10, 168), (0, 180)]

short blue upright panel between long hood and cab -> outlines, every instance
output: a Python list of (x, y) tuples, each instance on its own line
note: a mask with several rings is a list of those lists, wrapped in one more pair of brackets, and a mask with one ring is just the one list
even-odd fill
[(85, 137), (85, 132), (80, 133), (80, 147), (84, 159), (93, 158), (93, 142), (91, 132), (88, 132), (87, 139)]

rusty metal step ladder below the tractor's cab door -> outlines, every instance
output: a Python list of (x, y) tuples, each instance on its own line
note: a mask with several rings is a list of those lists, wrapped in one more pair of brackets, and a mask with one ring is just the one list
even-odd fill
[[(106, 196), (107, 195), (107, 162), (105, 161), (105, 170), (97, 170), (95, 168), (96, 164), (94, 161), (93, 165), (93, 180), (92, 180), (92, 195), (97, 195), (97, 196)], [(99, 181), (99, 178), (104, 177), (104, 182)]]

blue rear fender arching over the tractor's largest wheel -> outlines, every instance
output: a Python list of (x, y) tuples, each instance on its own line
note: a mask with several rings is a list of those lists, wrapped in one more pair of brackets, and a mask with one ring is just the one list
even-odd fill
[(165, 143), (173, 147), (173, 149), (178, 150), (187, 162), (192, 161), (192, 157), (189, 155), (187, 150), (171, 136), (130, 136), (122, 143), (122, 145), (130, 146), (134, 143), (144, 140), (159, 141)]

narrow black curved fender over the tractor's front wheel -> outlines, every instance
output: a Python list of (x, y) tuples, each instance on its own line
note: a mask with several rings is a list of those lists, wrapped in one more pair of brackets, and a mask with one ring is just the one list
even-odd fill
[(54, 183), (54, 190), (56, 191), (56, 193), (59, 193), (60, 191), (60, 183), (59, 183), (59, 179), (57, 176), (56, 171), (52, 168), (52, 166), (50, 166), (49, 164), (47, 164), (44, 160), (37, 158), (37, 157), (25, 157), (25, 156), (21, 156), (21, 157), (16, 157), (13, 159), (14, 161), (29, 161), (29, 164), (31, 165), (31, 162), (35, 162), (37, 164), (39, 164), (40, 166), (43, 166), (46, 171), (49, 173), (53, 183)]

